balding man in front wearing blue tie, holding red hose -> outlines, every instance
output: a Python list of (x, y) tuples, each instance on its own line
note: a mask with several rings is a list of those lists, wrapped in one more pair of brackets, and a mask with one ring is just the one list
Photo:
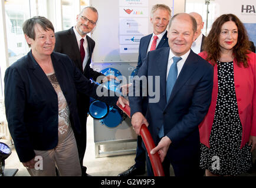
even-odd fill
[[(211, 103), (214, 72), (211, 64), (191, 51), (195, 36), (196, 21), (191, 15), (173, 16), (168, 31), (170, 48), (147, 54), (139, 77), (134, 78), (135, 93), (129, 96), (133, 129), (139, 135), (141, 125), (146, 124), (156, 144), (150, 154), (159, 153), (166, 176), (170, 164), (175, 176), (202, 176), (198, 125)], [(146, 117), (142, 114), (142, 96), (136, 96), (137, 87), (143, 89), (140, 79), (145, 76), (146, 88), (156, 92), (148, 96)], [(154, 83), (149, 82), (150, 77)], [(146, 162), (147, 174), (153, 176), (147, 155)]]

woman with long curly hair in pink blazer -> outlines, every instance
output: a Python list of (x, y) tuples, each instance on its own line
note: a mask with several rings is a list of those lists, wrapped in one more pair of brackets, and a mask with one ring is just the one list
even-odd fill
[(214, 66), (212, 102), (199, 125), (200, 166), (206, 176), (235, 176), (252, 166), (256, 148), (256, 60), (237, 16), (216, 19), (204, 52)]

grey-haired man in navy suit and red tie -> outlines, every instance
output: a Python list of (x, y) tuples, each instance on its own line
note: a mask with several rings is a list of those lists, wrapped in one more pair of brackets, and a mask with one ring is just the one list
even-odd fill
[[(171, 11), (169, 6), (163, 4), (156, 4), (152, 7), (150, 22), (153, 25), (153, 33), (147, 36), (143, 36), (143, 38), (140, 39), (139, 58), (135, 75), (137, 75), (140, 66), (142, 66), (143, 59), (146, 58), (147, 52), (169, 46), (166, 28), (169, 24), (171, 16), (170, 13)], [(147, 102), (145, 98), (143, 99), (143, 115), (146, 115), (146, 109)], [(136, 176), (144, 174), (146, 168), (145, 164), (146, 151), (142, 147), (142, 137), (137, 136), (135, 164), (129, 167), (128, 170), (120, 173), (119, 176)]]

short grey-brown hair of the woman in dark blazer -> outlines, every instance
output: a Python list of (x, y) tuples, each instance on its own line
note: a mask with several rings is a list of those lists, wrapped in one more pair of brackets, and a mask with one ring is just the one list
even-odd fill
[[(39, 24), (44, 31), (49, 31), (50, 29), (54, 32), (54, 26), (51, 21), (43, 16), (34, 16), (33, 18), (27, 19), (22, 25), (24, 34), (28, 35), (29, 38), (35, 40), (35, 25)], [(28, 44), (30, 47), (31, 45)]]

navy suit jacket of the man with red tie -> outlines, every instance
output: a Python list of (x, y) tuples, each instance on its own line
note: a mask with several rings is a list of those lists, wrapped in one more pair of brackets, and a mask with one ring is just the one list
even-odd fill
[[(163, 38), (157, 45), (156, 49), (163, 48), (163, 47), (169, 47), (168, 44), (168, 38), (167, 38), (167, 31), (165, 32), (165, 35), (163, 35)], [(143, 59), (146, 58), (147, 55), (147, 48), (149, 47), (150, 39), (152, 38), (152, 34), (143, 36), (140, 39), (140, 45), (139, 45), (139, 58), (138, 58), (138, 63), (136, 67), (136, 72), (135, 75), (137, 75), (137, 72), (139, 71), (140, 66), (142, 66)]]

